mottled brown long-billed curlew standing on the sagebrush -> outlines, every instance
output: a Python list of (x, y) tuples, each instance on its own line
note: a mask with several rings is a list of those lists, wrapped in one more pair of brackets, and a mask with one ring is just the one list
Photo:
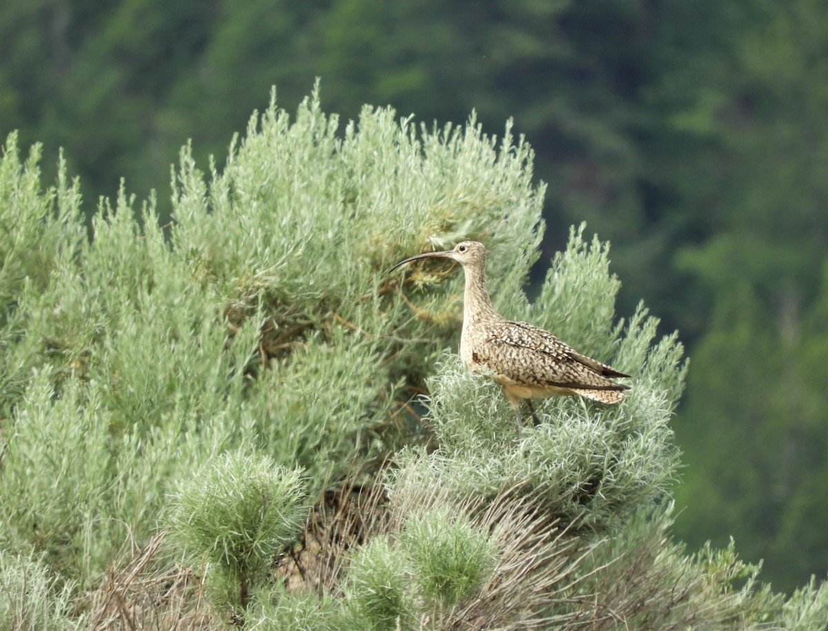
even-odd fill
[(427, 252), (400, 261), (388, 272), (419, 258), (450, 258), (463, 266), (465, 293), (460, 358), (469, 367), (487, 366), (494, 371), (503, 394), (515, 411), (522, 429), (520, 402), (526, 399), (532, 417), (532, 398), (579, 394), (602, 403), (618, 403), (629, 387), (610, 377), (629, 377), (576, 353), (555, 335), (525, 322), (506, 320), (494, 311), (486, 289), (486, 248), (483, 243), (463, 241), (453, 250)]

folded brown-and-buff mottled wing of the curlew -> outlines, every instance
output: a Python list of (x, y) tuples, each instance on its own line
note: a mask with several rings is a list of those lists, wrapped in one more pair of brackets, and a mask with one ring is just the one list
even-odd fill
[(476, 349), (479, 361), (515, 383), (590, 391), (628, 389), (609, 379), (628, 375), (575, 352), (537, 326), (502, 320), (487, 326), (484, 337), (486, 343)]

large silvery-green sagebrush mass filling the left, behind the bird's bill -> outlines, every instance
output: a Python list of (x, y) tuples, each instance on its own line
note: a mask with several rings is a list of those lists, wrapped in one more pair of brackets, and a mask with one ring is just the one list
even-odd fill
[(509, 253), (493, 258), (498, 284), (520, 291), (540, 239), (532, 152), (474, 119), (418, 128), (366, 108), (340, 126), (316, 94), (295, 118), (274, 102), (209, 176), (182, 150), (171, 225), (123, 185), (92, 239), (79, 182), (61, 164), (43, 190), (38, 159), (12, 136), (0, 162), (3, 475), (16, 482), (0, 485), (0, 541), (54, 554), (81, 583), (225, 450), (300, 465), (317, 497), (386, 441), (421, 441), (407, 403), (455, 344), (460, 281), (406, 298), (383, 271), (485, 238)]

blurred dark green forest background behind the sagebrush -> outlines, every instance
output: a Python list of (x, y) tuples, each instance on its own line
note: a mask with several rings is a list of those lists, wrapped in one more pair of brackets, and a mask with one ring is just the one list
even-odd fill
[[(546, 256), (613, 243), (621, 313), (678, 329), (677, 534), (734, 537), (792, 590), (828, 570), (828, 0), (7, 0), (0, 136), (99, 195), (221, 167), (277, 85), (291, 110), (507, 118), (537, 152)], [(531, 288), (530, 288), (531, 291)]]

